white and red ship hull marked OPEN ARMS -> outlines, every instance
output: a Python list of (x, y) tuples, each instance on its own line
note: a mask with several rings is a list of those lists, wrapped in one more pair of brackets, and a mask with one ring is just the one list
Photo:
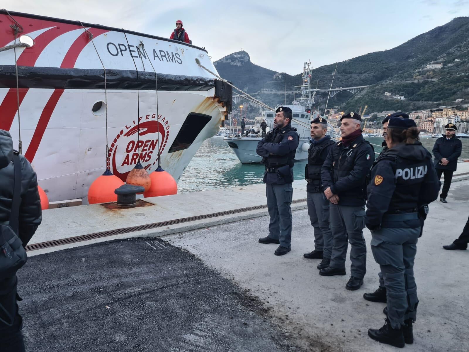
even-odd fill
[[(50, 201), (86, 198), (106, 166), (138, 161), (176, 181), (231, 111), (201, 47), (97, 24), (0, 10), (0, 129)], [(21, 141), (18, 142), (18, 141)]]

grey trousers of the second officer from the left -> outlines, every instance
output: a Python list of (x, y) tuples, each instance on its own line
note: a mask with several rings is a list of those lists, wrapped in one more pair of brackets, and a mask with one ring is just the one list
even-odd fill
[(308, 215), (314, 228), (314, 249), (323, 252), (324, 258), (331, 258), (332, 231), (329, 228), (329, 200), (322, 191), (306, 192)]

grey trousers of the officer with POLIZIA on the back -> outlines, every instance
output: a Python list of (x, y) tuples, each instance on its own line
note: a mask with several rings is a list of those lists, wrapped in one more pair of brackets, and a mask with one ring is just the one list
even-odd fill
[(414, 260), (420, 227), (404, 229), (401, 224), (417, 217), (417, 213), (386, 215), (383, 226), (391, 226), (371, 233), (371, 252), (381, 268), (387, 315), (393, 329), (404, 325), (404, 320), (416, 320), (418, 298)]

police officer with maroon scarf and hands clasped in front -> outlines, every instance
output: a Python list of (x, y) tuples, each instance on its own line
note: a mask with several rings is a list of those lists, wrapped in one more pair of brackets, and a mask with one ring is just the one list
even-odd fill
[(330, 201), (329, 222), (333, 235), (331, 262), (319, 270), (323, 276), (345, 275), (348, 242), (351, 277), (347, 290), (358, 290), (366, 273), (365, 227), (366, 179), (375, 159), (370, 143), (362, 136), (362, 118), (356, 113), (342, 115), (340, 134), (321, 168), (324, 194)]

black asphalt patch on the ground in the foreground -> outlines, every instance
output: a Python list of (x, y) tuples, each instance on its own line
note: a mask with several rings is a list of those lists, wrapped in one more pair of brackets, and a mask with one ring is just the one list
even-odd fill
[(27, 351), (301, 351), (257, 298), (193, 254), (132, 238), (30, 257)]

